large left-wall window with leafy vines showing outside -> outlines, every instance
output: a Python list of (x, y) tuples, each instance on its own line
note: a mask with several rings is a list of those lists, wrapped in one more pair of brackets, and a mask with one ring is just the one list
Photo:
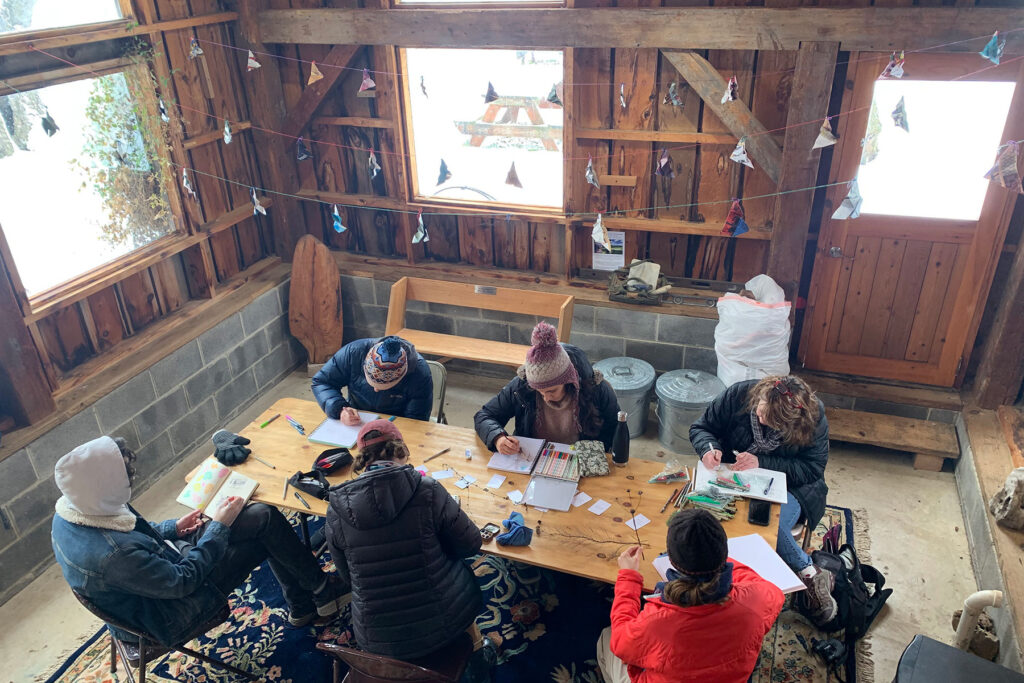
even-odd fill
[(0, 228), (30, 296), (173, 231), (160, 117), (136, 96), (147, 79), (139, 67), (0, 97)]

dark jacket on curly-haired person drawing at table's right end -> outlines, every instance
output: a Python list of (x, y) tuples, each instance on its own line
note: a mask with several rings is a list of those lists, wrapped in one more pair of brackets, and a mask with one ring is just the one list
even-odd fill
[[(722, 452), (722, 462), (733, 463), (733, 451), (742, 453), (754, 444), (746, 394), (757, 380), (737, 382), (715, 397), (703, 415), (690, 426), (690, 442), (697, 455), (712, 449)], [(811, 526), (825, 513), (825, 465), (828, 464), (828, 420), (825, 407), (818, 401), (818, 424), (810, 445), (782, 444), (768, 454), (758, 454), (761, 467), (785, 472), (785, 483)]]

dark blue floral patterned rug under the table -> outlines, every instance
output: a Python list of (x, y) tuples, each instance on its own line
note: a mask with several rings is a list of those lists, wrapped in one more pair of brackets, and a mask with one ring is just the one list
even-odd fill
[[(863, 514), (829, 506), (812, 540), (834, 523), (841, 524), (844, 542), (854, 542), (864, 561), (867, 533)], [(316, 521), (311, 524), (316, 528)], [(329, 559), (326, 561), (330, 561)], [(612, 590), (577, 577), (480, 555), (472, 562), (485, 611), (477, 618), (480, 631), (501, 647), (495, 683), (601, 683), (595, 643), (608, 625)], [(198, 641), (197, 648), (273, 683), (331, 680), (331, 663), (315, 649), (317, 641), (352, 643), (348, 608), (328, 626), (292, 629), (281, 589), (264, 564), (236, 591), (232, 618)], [(786, 607), (765, 637), (752, 683), (872, 683), (866, 645), (848, 657), (837, 678), (810, 652), (811, 639), (824, 636), (803, 616)], [(114, 683), (126, 680), (110, 673), (110, 639), (101, 629), (72, 654), (47, 683)], [(151, 666), (148, 681), (170, 683), (233, 683), (236, 677), (178, 653)]]

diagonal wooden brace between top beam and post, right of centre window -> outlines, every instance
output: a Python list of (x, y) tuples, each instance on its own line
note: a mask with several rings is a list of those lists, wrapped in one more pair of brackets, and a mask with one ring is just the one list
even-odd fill
[[(746, 136), (746, 153), (773, 182), (778, 182), (782, 148), (767, 129), (758, 121), (741, 99), (722, 101), (727, 82), (710, 61), (695, 52), (663, 50), (665, 58), (686, 79), (693, 91), (700, 95), (705, 106), (715, 113), (726, 128), (737, 138)], [(833, 69), (836, 68), (835, 58)], [(827, 103), (827, 100), (825, 101)]]

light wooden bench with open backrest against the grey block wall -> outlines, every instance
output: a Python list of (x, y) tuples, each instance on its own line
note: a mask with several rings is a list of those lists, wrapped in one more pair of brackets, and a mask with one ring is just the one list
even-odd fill
[(567, 342), (572, 331), (571, 295), (517, 290), (508, 287), (484, 287), (466, 283), (450, 283), (424, 278), (402, 278), (391, 286), (385, 333), (407, 339), (420, 353), (449, 358), (463, 358), (518, 368), (526, 360), (525, 344), (510, 344), (473, 337), (441, 334), (406, 327), (406, 304), (409, 301), (443, 303), (501, 310), (508, 313), (541, 315), (558, 318), (558, 341)]

